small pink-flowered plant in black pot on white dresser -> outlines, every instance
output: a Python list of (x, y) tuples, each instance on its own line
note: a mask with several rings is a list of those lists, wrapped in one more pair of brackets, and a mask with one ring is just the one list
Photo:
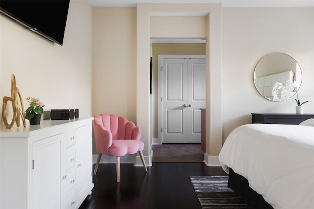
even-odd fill
[(26, 109), (25, 118), (29, 120), (30, 125), (40, 124), (41, 115), (45, 115), (43, 107), (45, 105), (34, 97), (26, 97), (29, 107)]

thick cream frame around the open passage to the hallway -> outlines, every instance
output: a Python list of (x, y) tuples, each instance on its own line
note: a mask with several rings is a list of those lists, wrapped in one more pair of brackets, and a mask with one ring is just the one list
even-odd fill
[[(208, 166), (220, 166), (218, 159), (222, 148), (222, 4), (221, 3), (138, 3), (136, 6), (136, 123), (142, 130), (144, 160), (152, 166), (150, 146), (150, 16), (161, 13), (202, 13), (207, 16), (206, 36), (206, 153), (204, 162)], [(184, 14), (183, 14), (184, 13)], [(152, 15), (153, 16), (153, 15)], [(166, 37), (166, 38), (171, 38)], [(197, 38), (197, 37), (193, 37)], [(135, 166), (141, 159), (136, 158)]]

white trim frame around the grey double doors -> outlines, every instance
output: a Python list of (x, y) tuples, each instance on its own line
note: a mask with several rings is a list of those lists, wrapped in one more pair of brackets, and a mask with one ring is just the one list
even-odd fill
[(157, 116), (158, 116), (158, 138), (155, 143), (162, 144), (162, 62), (164, 59), (205, 59), (206, 62), (206, 55), (205, 54), (158, 54), (158, 109), (157, 109)]

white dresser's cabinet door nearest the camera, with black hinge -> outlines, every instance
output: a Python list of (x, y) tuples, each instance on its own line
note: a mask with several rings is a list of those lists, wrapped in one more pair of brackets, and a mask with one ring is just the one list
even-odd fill
[[(61, 208), (62, 134), (33, 143), (32, 207)], [(53, 177), (53, 178), (52, 178)], [(47, 192), (49, 191), (49, 192)]]

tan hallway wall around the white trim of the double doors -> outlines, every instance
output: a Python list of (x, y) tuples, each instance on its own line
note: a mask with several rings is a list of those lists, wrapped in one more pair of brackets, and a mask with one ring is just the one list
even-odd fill
[(205, 43), (196, 44), (152, 44), (153, 51), (153, 138), (158, 138), (158, 55), (159, 54), (205, 54)]

